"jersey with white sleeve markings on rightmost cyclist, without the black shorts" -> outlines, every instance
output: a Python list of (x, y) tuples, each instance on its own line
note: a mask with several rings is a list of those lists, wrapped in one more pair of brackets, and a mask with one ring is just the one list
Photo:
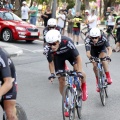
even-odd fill
[(86, 51), (90, 51), (92, 47), (96, 47), (96, 46), (99, 47), (99, 46), (104, 46), (104, 45), (105, 45), (106, 47), (109, 47), (109, 46), (110, 46), (107, 38), (106, 38), (104, 35), (102, 35), (102, 36), (99, 38), (99, 40), (98, 40), (98, 42), (97, 42), (96, 44), (94, 44), (94, 42), (92, 41), (92, 39), (91, 39), (90, 37), (87, 37), (87, 38), (85, 39), (85, 48), (86, 48)]

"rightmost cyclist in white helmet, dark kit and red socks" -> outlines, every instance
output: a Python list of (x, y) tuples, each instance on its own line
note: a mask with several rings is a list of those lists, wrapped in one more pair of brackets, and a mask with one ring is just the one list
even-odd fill
[[(106, 60), (111, 61), (110, 56), (112, 54), (112, 49), (109, 45), (107, 38), (105, 37), (104, 34), (101, 35), (101, 32), (98, 28), (92, 28), (90, 30), (90, 36), (88, 36), (85, 39), (85, 48), (86, 48), (87, 57), (93, 63), (93, 71), (96, 76), (96, 86), (97, 86), (96, 90), (97, 92), (99, 92), (98, 76), (97, 76), (97, 71), (96, 71), (97, 66), (96, 66), (96, 63), (94, 62), (94, 58), (99, 57), (99, 58), (104, 59), (104, 61), (102, 61), (102, 64), (103, 64), (104, 71), (106, 74), (107, 83), (111, 84), (112, 79), (111, 79), (109, 69), (108, 69), (108, 62)], [(106, 52), (106, 48), (107, 48), (107, 52)]]

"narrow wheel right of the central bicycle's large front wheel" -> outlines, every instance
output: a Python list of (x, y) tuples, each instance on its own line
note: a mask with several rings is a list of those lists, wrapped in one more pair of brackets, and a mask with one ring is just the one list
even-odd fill
[(81, 90), (78, 90), (78, 100), (76, 103), (76, 110), (77, 110), (78, 119), (81, 119), (81, 111), (82, 111), (82, 91)]

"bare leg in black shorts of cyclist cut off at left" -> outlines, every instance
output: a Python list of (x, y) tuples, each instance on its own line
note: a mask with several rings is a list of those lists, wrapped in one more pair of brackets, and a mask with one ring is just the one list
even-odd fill
[(8, 120), (18, 120), (16, 116), (16, 96), (17, 96), (17, 86), (14, 83), (11, 90), (3, 96), (4, 110), (7, 115)]

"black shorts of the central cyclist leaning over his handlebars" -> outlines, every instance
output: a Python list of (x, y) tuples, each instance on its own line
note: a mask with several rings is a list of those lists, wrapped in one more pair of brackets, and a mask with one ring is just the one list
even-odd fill
[(71, 65), (76, 63), (75, 57), (71, 54), (61, 54), (61, 55), (54, 55), (54, 65), (55, 65), (55, 72), (58, 73), (60, 71), (65, 70), (65, 61), (68, 60)]

